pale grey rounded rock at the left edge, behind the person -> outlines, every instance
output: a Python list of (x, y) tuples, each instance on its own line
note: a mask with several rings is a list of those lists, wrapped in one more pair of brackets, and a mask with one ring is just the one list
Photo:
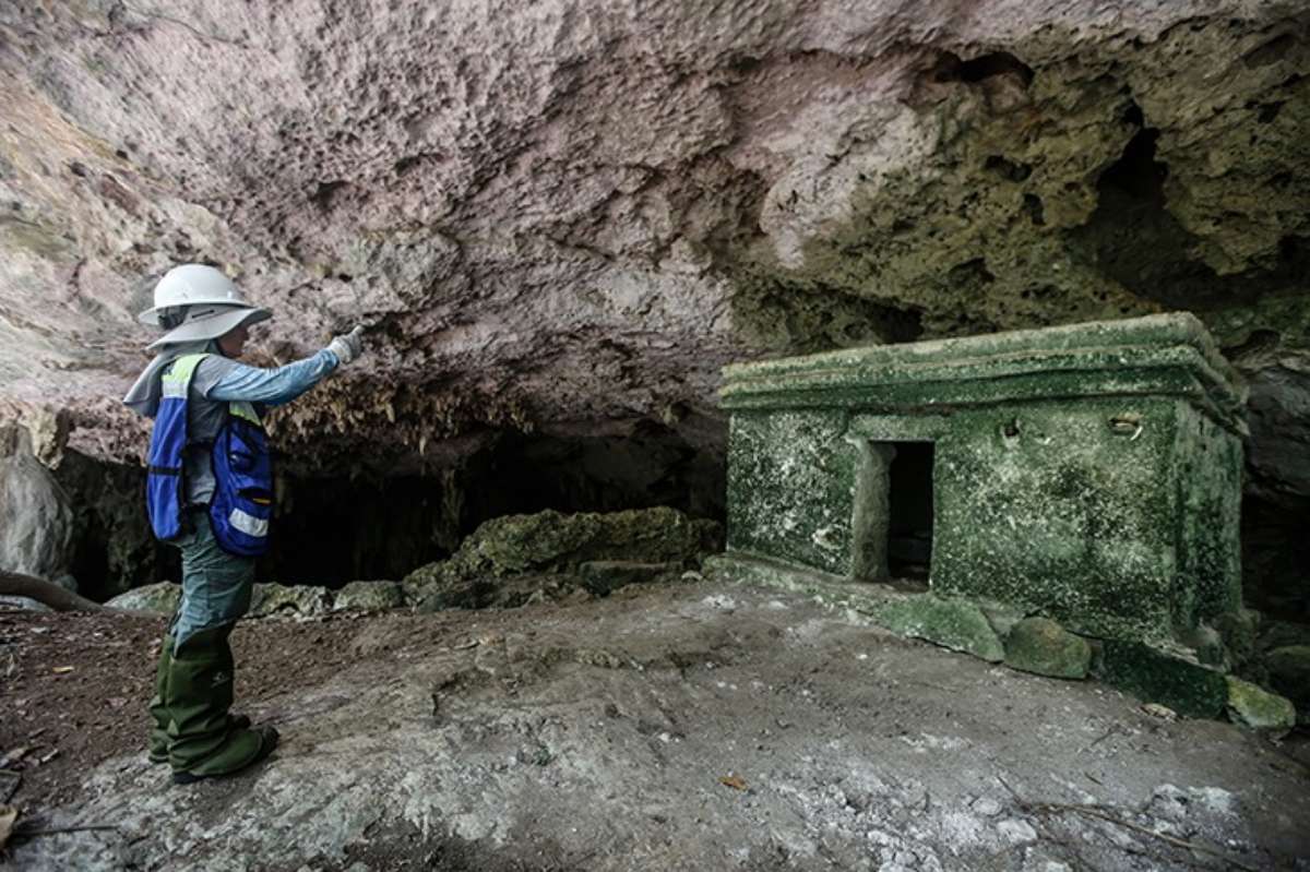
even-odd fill
[(68, 573), (73, 515), (33, 454), (24, 427), (0, 427), (0, 568), (55, 580)]

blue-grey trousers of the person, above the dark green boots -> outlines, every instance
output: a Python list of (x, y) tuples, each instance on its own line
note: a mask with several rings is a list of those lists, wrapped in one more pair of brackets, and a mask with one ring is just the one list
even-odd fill
[(183, 526), (173, 539), (182, 551), (182, 601), (170, 626), (178, 647), (200, 630), (234, 623), (250, 609), (254, 592), (254, 558), (219, 547), (208, 507), (189, 508)]

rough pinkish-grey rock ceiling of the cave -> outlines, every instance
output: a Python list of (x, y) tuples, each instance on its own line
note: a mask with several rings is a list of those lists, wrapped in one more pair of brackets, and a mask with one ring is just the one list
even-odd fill
[(1303, 3), (17, 1), (0, 102), (0, 410), (93, 457), (202, 261), (258, 363), (368, 326), (275, 423), (324, 462), (713, 448), (731, 360), (1191, 309), (1310, 494)]

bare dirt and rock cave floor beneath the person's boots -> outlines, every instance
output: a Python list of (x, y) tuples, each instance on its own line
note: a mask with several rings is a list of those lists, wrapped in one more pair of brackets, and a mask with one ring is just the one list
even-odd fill
[(45, 830), (0, 868), (1310, 869), (1303, 736), (799, 596), (242, 622), (237, 710), (283, 744), (191, 787), (144, 752), (162, 627), (0, 613), (0, 805)]

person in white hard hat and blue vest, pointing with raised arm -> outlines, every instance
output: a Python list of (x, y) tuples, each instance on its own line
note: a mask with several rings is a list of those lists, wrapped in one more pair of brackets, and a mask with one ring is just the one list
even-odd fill
[(149, 711), (149, 758), (173, 782), (229, 775), (265, 759), (271, 725), (229, 714), (228, 638), (250, 606), (255, 558), (269, 543), (272, 473), (261, 414), (290, 402), (363, 351), (363, 327), (304, 360), (261, 369), (241, 356), (250, 325), (272, 313), (246, 302), (221, 271), (169, 270), (140, 321), (166, 333), (123, 402), (155, 419), (145, 504), (155, 536), (182, 553), (182, 597), (165, 632)]

